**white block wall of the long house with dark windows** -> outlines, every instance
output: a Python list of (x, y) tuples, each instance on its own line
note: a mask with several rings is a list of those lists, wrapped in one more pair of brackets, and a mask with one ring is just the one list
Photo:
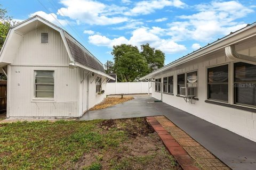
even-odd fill
[[(239, 50), (239, 53), (245, 55), (256, 56), (256, 46)], [(242, 135), (245, 138), (256, 141), (256, 113), (243, 111), (215, 104), (205, 103), (207, 93), (206, 67), (223, 63), (231, 63), (225, 53), (222, 55), (205, 56), (204, 61), (193, 61), (177, 66), (175, 70), (167, 71), (165, 73), (156, 75), (155, 78), (163, 78), (173, 75), (174, 95), (163, 94), (163, 102), (182, 111), (193, 114), (197, 117), (203, 118), (213, 124), (219, 125), (222, 128), (228, 129), (232, 132)], [(207, 58), (207, 60), (205, 60)], [(177, 74), (189, 71), (198, 71), (198, 101), (193, 100), (195, 104), (186, 103), (182, 97), (177, 97)], [(231, 72), (231, 69), (229, 70)], [(152, 85), (153, 97), (161, 99), (161, 94), (155, 92), (155, 83)]]

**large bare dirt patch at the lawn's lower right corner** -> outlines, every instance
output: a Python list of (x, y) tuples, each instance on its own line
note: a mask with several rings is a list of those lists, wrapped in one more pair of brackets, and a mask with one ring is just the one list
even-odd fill
[[(101, 157), (101, 159), (99, 159)], [(102, 165), (101, 169), (173, 169), (181, 170), (176, 160), (167, 152), (157, 133), (130, 138), (117, 150), (103, 153), (91, 151), (76, 163), (74, 169), (83, 169), (94, 162)]]

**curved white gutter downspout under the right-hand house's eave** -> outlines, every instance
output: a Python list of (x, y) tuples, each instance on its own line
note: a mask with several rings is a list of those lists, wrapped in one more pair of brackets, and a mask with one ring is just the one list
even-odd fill
[(235, 61), (245, 61), (245, 62), (256, 62), (256, 57), (239, 54), (236, 52), (235, 45), (230, 45), (225, 47), (225, 53), (227, 57)]

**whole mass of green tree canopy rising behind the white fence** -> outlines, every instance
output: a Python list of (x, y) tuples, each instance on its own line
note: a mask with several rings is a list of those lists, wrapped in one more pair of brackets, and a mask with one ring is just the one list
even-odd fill
[(155, 50), (149, 44), (141, 45), (141, 50), (126, 44), (113, 47), (111, 54), (114, 56), (114, 66), (111, 71), (117, 74), (119, 82), (138, 80), (164, 66), (165, 54), (161, 50)]

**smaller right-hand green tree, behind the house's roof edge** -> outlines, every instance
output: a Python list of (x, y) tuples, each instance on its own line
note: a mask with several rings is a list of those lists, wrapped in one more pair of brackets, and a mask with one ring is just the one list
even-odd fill
[(148, 73), (164, 66), (165, 54), (161, 50), (150, 47), (148, 43), (141, 45), (141, 49), (141, 55), (148, 63)]

